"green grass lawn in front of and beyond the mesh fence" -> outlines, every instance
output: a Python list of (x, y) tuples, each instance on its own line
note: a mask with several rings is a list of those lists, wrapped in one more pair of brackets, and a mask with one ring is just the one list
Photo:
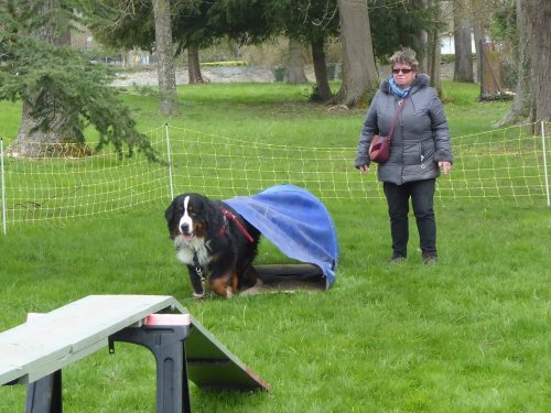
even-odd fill
[[(360, 109), (333, 112), (309, 104), (304, 86), (210, 84), (179, 94), (181, 115), (172, 119), (156, 113), (152, 96), (130, 88), (123, 99), (144, 131), (170, 122), (276, 144), (354, 146), (364, 119)], [(444, 84), (454, 137), (490, 130), (506, 112), (507, 104), (478, 104), (476, 94), (474, 85)], [(19, 121), (18, 105), (0, 104), (7, 142)], [(383, 263), (390, 254), (383, 199), (326, 206), (341, 247), (331, 290), (230, 301), (191, 298), (162, 203), (108, 218), (12, 226), (0, 237), (0, 330), (28, 312), (89, 294), (173, 295), (273, 389), (244, 394), (194, 387), (194, 411), (548, 411), (549, 207), (443, 202), (436, 210), (441, 259), (423, 267), (413, 224), (408, 261)], [(261, 243), (258, 263), (287, 261)], [(114, 356), (105, 349), (64, 370), (65, 407), (153, 412), (154, 380), (147, 350), (118, 345)], [(0, 411), (22, 411), (24, 390), (0, 389)]]

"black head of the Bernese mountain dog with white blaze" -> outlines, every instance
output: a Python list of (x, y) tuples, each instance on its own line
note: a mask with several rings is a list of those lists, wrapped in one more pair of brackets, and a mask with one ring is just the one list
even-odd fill
[(184, 241), (206, 238), (209, 231), (223, 225), (213, 202), (195, 193), (175, 197), (164, 217), (171, 238), (181, 237)]

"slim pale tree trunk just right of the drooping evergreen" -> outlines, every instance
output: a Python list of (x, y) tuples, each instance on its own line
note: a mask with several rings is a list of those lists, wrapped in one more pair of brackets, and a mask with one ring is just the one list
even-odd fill
[(170, 0), (152, 0), (159, 77), (159, 112), (177, 115), (176, 72), (172, 47)]

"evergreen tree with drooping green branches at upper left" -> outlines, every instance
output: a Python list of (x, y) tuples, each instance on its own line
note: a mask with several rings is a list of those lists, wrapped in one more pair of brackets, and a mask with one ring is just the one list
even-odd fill
[(154, 151), (136, 129), (130, 111), (109, 87), (114, 73), (71, 47), (71, 31), (109, 9), (87, 0), (3, 0), (0, 2), (0, 99), (21, 100), (23, 116), (8, 152), (19, 156), (53, 155), (52, 143), (76, 143), (68, 155), (89, 150), (84, 130), (99, 132), (100, 150)]

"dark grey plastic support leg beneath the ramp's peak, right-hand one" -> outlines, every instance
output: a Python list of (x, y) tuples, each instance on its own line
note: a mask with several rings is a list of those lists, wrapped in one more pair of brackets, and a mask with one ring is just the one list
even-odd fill
[(184, 339), (188, 326), (127, 327), (109, 337), (109, 351), (114, 341), (126, 341), (151, 350), (156, 362), (156, 413), (191, 413), (190, 387), (185, 361)]

